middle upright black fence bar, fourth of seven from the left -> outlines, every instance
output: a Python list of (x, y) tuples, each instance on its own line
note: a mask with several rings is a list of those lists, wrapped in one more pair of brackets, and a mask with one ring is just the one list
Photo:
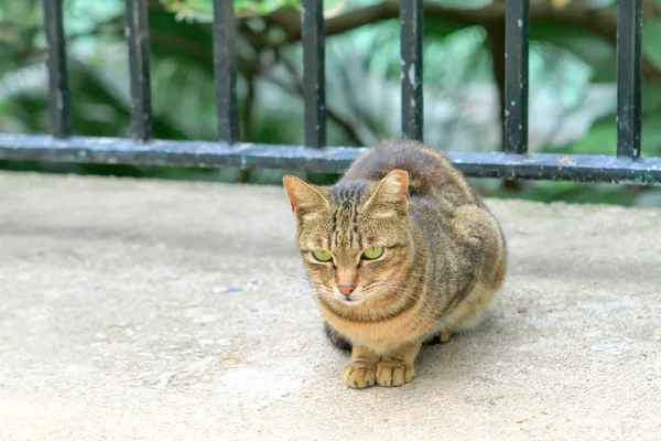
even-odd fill
[(303, 0), (305, 144), (326, 146), (326, 42), (324, 1)]

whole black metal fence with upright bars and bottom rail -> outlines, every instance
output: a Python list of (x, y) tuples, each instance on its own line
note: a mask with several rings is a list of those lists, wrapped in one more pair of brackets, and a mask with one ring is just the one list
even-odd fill
[[(342, 172), (366, 148), (326, 147), (323, 0), (303, 0), (306, 146), (241, 143), (232, 0), (214, 0), (218, 142), (152, 139), (147, 0), (126, 0), (133, 139), (72, 132), (62, 0), (44, 0), (52, 136), (0, 133), (0, 159), (106, 164), (240, 166)], [(469, 176), (661, 183), (661, 158), (641, 158), (642, 0), (620, 0), (617, 25), (617, 152), (528, 153), (529, 0), (506, 3), (505, 152), (452, 153)], [(423, 0), (402, 0), (402, 136), (422, 140)]]

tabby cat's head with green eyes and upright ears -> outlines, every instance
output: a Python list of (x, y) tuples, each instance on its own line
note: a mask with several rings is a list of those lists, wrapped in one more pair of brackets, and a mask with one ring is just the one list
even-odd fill
[(413, 259), (405, 171), (332, 187), (293, 175), (283, 182), (317, 294), (353, 306), (398, 289)]

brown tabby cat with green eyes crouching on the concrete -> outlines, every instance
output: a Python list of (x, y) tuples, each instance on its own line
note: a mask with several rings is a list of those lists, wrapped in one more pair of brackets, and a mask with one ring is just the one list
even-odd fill
[(344, 384), (410, 383), (421, 344), (477, 323), (507, 268), (500, 225), (438, 151), (389, 140), (333, 186), (283, 178)]

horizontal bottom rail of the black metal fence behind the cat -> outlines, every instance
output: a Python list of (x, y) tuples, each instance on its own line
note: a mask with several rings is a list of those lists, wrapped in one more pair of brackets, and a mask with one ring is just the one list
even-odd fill
[[(258, 143), (152, 140), (0, 133), (0, 160), (34, 160), (131, 165), (272, 168), (340, 173), (367, 149)], [(467, 176), (661, 185), (661, 158), (596, 154), (512, 155), (503, 152), (447, 152)]]

